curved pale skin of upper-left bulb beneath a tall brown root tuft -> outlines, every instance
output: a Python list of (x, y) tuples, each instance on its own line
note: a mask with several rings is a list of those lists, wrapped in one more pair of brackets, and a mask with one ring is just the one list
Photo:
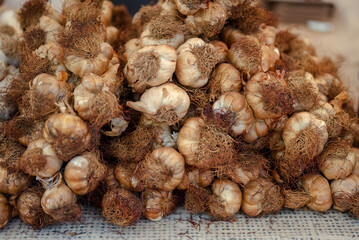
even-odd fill
[(64, 59), (66, 68), (79, 77), (84, 77), (90, 73), (101, 75), (107, 70), (113, 57), (113, 48), (105, 42), (101, 43), (100, 47), (100, 53), (92, 59), (75, 55), (66, 56)]

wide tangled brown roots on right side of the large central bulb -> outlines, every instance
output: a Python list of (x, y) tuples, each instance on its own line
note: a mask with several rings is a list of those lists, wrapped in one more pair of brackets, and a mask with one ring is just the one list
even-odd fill
[(202, 127), (195, 154), (195, 166), (201, 169), (219, 168), (235, 158), (233, 139), (215, 125)]

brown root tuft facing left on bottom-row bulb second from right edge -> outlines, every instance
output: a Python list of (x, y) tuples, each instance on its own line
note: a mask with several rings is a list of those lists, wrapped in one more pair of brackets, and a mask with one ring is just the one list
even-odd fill
[(290, 209), (299, 209), (305, 207), (311, 200), (312, 197), (303, 190), (289, 190), (283, 189), (284, 195), (284, 207)]

